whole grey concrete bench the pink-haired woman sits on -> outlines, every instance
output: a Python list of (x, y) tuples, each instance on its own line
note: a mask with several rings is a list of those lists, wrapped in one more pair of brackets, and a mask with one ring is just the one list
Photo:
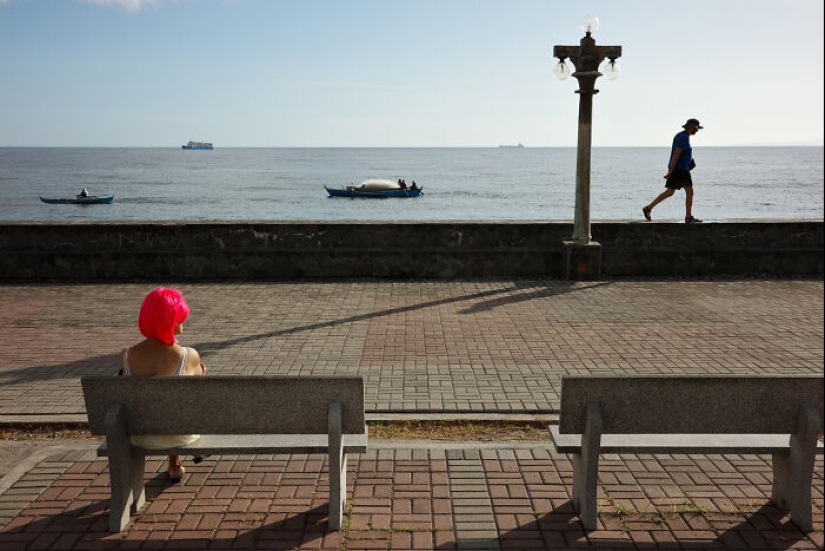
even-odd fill
[[(92, 434), (106, 436), (109, 530), (120, 532), (145, 501), (147, 455), (329, 453), (329, 528), (346, 501), (347, 453), (365, 452), (361, 377), (82, 377)], [(187, 446), (145, 449), (132, 435), (200, 434)]]

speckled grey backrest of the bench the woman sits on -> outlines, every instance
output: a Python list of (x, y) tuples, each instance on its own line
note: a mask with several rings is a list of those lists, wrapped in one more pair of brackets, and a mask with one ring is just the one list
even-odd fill
[(123, 404), (130, 434), (326, 434), (340, 402), (343, 433), (364, 433), (362, 377), (82, 377), (93, 434)]

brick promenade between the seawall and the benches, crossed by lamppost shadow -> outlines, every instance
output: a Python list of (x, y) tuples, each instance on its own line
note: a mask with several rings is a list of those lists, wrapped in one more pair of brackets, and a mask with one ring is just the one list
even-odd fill
[[(0, 420), (77, 415), (151, 285), (0, 286)], [(212, 374), (357, 374), (369, 412), (549, 412), (566, 373), (823, 372), (822, 280), (186, 284)]]

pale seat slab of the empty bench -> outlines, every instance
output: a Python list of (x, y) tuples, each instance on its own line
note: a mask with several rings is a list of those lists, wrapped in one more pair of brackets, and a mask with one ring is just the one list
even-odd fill
[[(550, 426), (556, 450), (561, 453), (581, 453), (581, 434), (561, 434), (558, 425)], [(789, 453), (789, 434), (604, 434), (601, 453), (708, 453), (708, 454), (774, 454)], [(817, 453), (825, 453), (822, 442)]]

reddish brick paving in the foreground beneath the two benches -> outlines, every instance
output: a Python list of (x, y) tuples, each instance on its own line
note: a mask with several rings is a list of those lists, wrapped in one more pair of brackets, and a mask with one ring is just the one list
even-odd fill
[[(454, 446), (454, 447), (451, 447)], [(381, 447), (350, 463), (343, 529), (329, 533), (324, 456), (243, 456), (187, 464), (165, 483), (147, 465), (147, 505), (106, 531), (106, 462), (73, 451), (38, 463), (0, 495), (0, 550), (35, 549), (821, 549), (772, 506), (762, 456), (607, 456), (599, 528), (572, 509), (572, 466), (543, 446)]]

